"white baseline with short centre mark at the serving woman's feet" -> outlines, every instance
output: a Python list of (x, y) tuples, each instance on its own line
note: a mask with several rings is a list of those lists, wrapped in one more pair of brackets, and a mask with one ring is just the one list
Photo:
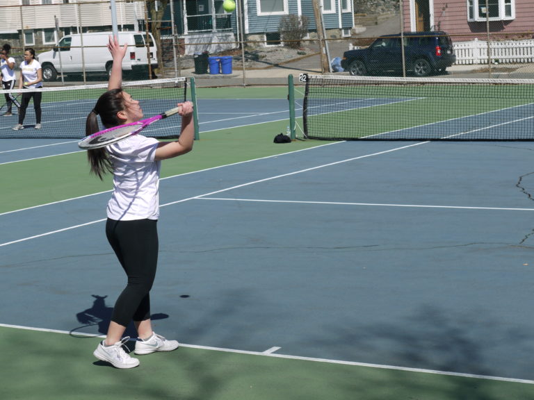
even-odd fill
[[(38, 332), (48, 332), (48, 333), (61, 333), (64, 335), (72, 335), (72, 331), (60, 331), (57, 329), (44, 329), (44, 328), (31, 328), (29, 326), (20, 326), (20, 325), (9, 325), (9, 324), (0, 324), (3, 328), (15, 328), (15, 329), (24, 329), (26, 331), (38, 331)], [(75, 335), (79, 336), (88, 336), (92, 338), (104, 338), (105, 335), (91, 335), (89, 333), (79, 333), (76, 332)], [(237, 349), (225, 349), (224, 347), (211, 347), (211, 346), (199, 346), (196, 344), (185, 344), (180, 343), (181, 347), (187, 347), (188, 349), (199, 349), (199, 350), (212, 350), (220, 351), (224, 353), (237, 353), (237, 354), (246, 354), (250, 356), (264, 356), (264, 357), (273, 357), (273, 358), (284, 358), (287, 360), (301, 360), (301, 361), (310, 361), (314, 363), (327, 363), (327, 364), (337, 364), (337, 365), (353, 365), (355, 367), (369, 367), (376, 369), (389, 369), (394, 371), (403, 371), (403, 372), (417, 372), (421, 374), (433, 374), (433, 375), (443, 375), (443, 376), (457, 376), (459, 378), (474, 378), (474, 379), (485, 379), (488, 381), (501, 381), (501, 382), (510, 382), (510, 383), (526, 383), (528, 385), (534, 385), (534, 381), (528, 379), (517, 379), (517, 378), (504, 378), (502, 376), (489, 376), (489, 375), (479, 375), (479, 374), (463, 374), (460, 372), (448, 372), (448, 371), (439, 371), (437, 369), (423, 369), (423, 368), (410, 368), (410, 367), (398, 367), (396, 365), (381, 365), (381, 364), (371, 364), (371, 363), (357, 363), (355, 361), (343, 361), (343, 360), (331, 360), (328, 358), (314, 358), (314, 357), (300, 357), (300, 356), (290, 356), (287, 354), (276, 354), (268, 353), (267, 351), (247, 351), (247, 350), (237, 350)], [(280, 349), (273, 347), (273, 349)]]

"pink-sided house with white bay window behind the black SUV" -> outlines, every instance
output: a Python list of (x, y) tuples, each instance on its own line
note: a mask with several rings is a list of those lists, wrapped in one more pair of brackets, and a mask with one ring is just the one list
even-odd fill
[(533, 0), (403, 0), (405, 31), (445, 31), (461, 38), (487, 32), (514, 38), (534, 37)]

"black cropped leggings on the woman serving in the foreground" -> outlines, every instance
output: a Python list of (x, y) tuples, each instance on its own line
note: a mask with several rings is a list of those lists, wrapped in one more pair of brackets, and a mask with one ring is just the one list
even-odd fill
[(150, 318), (150, 289), (158, 263), (157, 221), (108, 219), (106, 236), (128, 276), (128, 284), (118, 297), (111, 321), (128, 326), (130, 321)]

